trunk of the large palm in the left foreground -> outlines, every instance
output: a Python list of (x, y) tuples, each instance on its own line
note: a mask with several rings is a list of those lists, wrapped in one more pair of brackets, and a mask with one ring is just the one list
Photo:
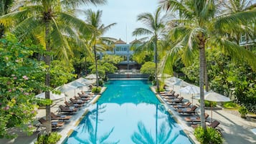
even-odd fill
[[(46, 39), (46, 43), (45, 43), (45, 47), (47, 49), (47, 52), (51, 51), (51, 47), (50, 47), (50, 39), (49, 39), (49, 22), (45, 23), (45, 39)], [(50, 69), (50, 64), (51, 64), (51, 56), (49, 55), (49, 53), (46, 55), (45, 57), (45, 64), (47, 64), (47, 74), (45, 75), (45, 85), (46, 86), (50, 86), (50, 73), (49, 73), (49, 69)], [(49, 99), (49, 91), (45, 92), (45, 99)], [(47, 124), (46, 124), (46, 131), (47, 133), (51, 133), (52, 132), (52, 123), (51, 123), (51, 105), (46, 105), (46, 120), (47, 120)]]

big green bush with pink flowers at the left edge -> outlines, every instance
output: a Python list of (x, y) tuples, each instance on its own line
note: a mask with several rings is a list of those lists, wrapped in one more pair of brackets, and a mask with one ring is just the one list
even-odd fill
[(8, 133), (13, 127), (31, 134), (37, 115), (34, 92), (49, 90), (39, 79), (44, 74), (44, 63), (30, 58), (38, 47), (16, 42), (9, 34), (0, 40), (0, 138), (15, 136)]

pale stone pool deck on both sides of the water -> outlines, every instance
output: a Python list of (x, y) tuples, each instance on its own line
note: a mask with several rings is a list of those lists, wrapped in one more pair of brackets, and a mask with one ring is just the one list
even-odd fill
[[(174, 90), (176, 92), (179, 92), (179, 86), (174, 86)], [(70, 97), (73, 97), (74, 92), (67, 92), (67, 100), (69, 100)], [(184, 97), (184, 100), (191, 102), (191, 95), (185, 95), (181, 94), (182, 97)], [(81, 117), (87, 113), (88, 106), (92, 105), (95, 101), (98, 100), (100, 95), (97, 95), (94, 97), (93, 100), (91, 100), (88, 105), (85, 105), (79, 110), (75, 115), (72, 115), (71, 120), (68, 121), (68, 123), (63, 126), (63, 128), (60, 128), (60, 130), (57, 130), (58, 133), (62, 135), (61, 140), (58, 144), (61, 144), (65, 141), (65, 138), (67, 138), (70, 133), (72, 133), (72, 130), (75, 128), (76, 125), (81, 120)], [(194, 105), (199, 105), (197, 100), (193, 100)], [(58, 109), (58, 105), (64, 105), (64, 100), (56, 101), (54, 102), (55, 105), (52, 106), (52, 112), (56, 112)], [(163, 104), (166, 106), (166, 108), (174, 115), (174, 119), (178, 121), (178, 123), (181, 125), (181, 128), (184, 129), (184, 132), (189, 135), (189, 137), (192, 140), (195, 140), (194, 138), (194, 129), (191, 128), (189, 123), (186, 123), (184, 120), (184, 117), (188, 115), (180, 115), (179, 112), (176, 112), (173, 107), (163, 102)], [(197, 112), (199, 112), (199, 108), (196, 109)], [(206, 112), (211, 117), (211, 111), (206, 110)], [(45, 109), (39, 109), (37, 118), (43, 117), (45, 115)], [(220, 122), (219, 128), (222, 130), (222, 135), (224, 138), (224, 144), (234, 143), (234, 144), (251, 144), (256, 143), (256, 135), (252, 133), (253, 128), (256, 128), (256, 122), (252, 122), (250, 120), (242, 119), (241, 117), (237, 115), (233, 115), (231, 112), (227, 112), (227, 110), (213, 110), (212, 112), (213, 120), (218, 120)], [(210, 120), (210, 119), (209, 119)], [(34, 143), (34, 140), (37, 138), (37, 134), (39, 132), (34, 132), (33, 135), (27, 136), (24, 133), (20, 133), (18, 138), (12, 139), (12, 140), (6, 140), (6, 139), (0, 139), (0, 143), (3, 144), (32, 144)], [(198, 142), (195, 141), (197, 144)]]

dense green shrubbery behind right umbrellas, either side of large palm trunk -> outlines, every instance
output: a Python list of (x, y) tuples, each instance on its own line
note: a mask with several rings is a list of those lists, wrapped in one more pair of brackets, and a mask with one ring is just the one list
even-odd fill
[[(182, 71), (189, 80), (197, 83), (198, 62), (183, 68)], [(227, 95), (235, 103), (245, 105), (250, 112), (256, 113), (256, 72), (253, 72), (246, 63), (234, 63), (215, 49), (207, 49), (207, 71), (209, 86), (214, 92)]]

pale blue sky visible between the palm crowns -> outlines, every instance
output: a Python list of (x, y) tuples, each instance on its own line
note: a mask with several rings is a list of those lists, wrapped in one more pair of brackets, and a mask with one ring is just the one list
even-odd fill
[(136, 21), (138, 14), (149, 12), (153, 14), (158, 6), (158, 0), (108, 0), (108, 3), (101, 6), (86, 6), (85, 9), (93, 11), (102, 10), (102, 23), (117, 23), (104, 34), (104, 37), (122, 39), (124, 42), (132, 42), (132, 32), (138, 27), (144, 27), (140, 21)]

